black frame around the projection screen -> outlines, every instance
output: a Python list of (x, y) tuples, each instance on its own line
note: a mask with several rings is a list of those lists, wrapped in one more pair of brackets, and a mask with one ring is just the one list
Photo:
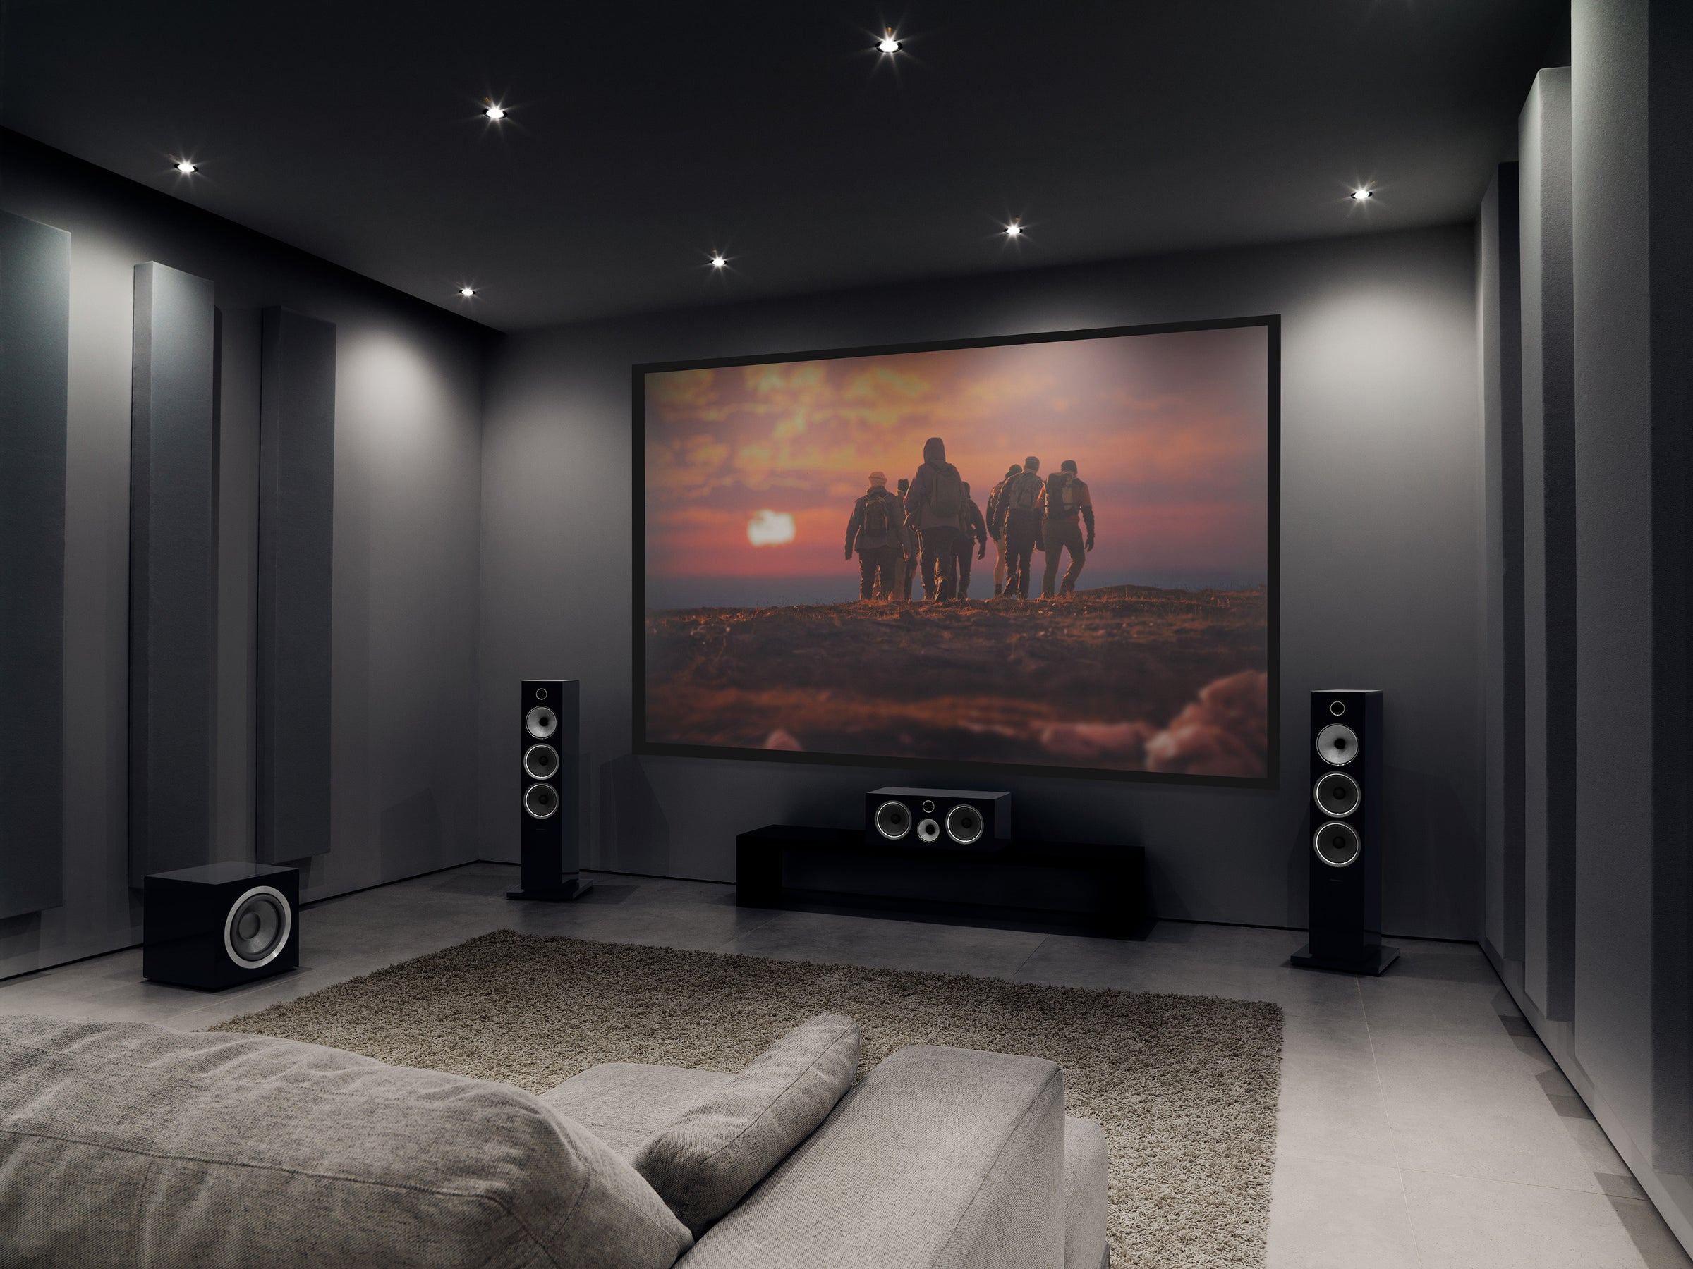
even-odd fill
[[(1266, 349), (1266, 582), (1265, 582), (1265, 663), (1268, 673), (1268, 716), (1265, 773), (1187, 775), (1177, 772), (1126, 772), (1097, 766), (1062, 766), (1048, 763), (995, 763), (967, 758), (899, 758), (870, 753), (813, 753), (794, 750), (738, 750), (720, 744), (676, 744), (647, 738), (647, 376), (669, 371), (716, 371), (735, 365), (770, 365), (782, 362), (821, 362), (841, 357), (884, 357), (901, 352), (946, 352), (953, 349), (995, 349), (1014, 343), (1068, 343), (1072, 340), (1117, 338), (1122, 335), (1172, 335), (1192, 330), (1238, 330), (1263, 327)], [(750, 357), (703, 357), (694, 360), (638, 362), (630, 367), (633, 403), (631, 506), (633, 506), (633, 682), (631, 738), (637, 755), (664, 758), (714, 758), (721, 761), (774, 761), (808, 766), (877, 766), (894, 772), (979, 773), (982, 777), (1036, 777), (1063, 780), (1112, 780), (1128, 783), (1200, 785), (1205, 788), (1280, 788), (1282, 787), (1282, 316), (1214, 318), (1209, 321), (1160, 321), (1138, 327), (1092, 327), (1087, 330), (1053, 330), (1033, 335), (987, 335), (963, 340), (926, 340), (921, 343), (874, 343), (855, 349), (819, 349)]]

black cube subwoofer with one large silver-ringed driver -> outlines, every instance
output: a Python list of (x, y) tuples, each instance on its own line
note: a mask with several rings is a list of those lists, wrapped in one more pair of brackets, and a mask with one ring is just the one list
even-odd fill
[(222, 988), (300, 964), (300, 870), (208, 863), (142, 880), (141, 973)]

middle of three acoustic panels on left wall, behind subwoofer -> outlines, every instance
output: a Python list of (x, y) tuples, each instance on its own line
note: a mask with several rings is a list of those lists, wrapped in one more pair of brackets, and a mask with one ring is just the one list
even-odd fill
[(135, 266), (129, 882), (212, 860), (217, 426), (212, 283)]

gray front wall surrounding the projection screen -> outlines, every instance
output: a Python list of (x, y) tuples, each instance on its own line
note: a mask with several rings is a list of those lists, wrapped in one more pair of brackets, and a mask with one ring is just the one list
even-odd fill
[[(1385, 927), (1475, 937), (1481, 425), (1468, 225), (850, 291), (503, 342), (483, 442), (484, 858), (516, 858), (521, 678), (582, 680), (584, 865), (726, 880), (735, 834), (857, 826), (897, 768), (628, 756), (630, 364), (1280, 313), (1280, 792), (1011, 778), (1023, 826), (1139, 841), (1166, 917), (1302, 926), (1312, 687), (1387, 690)], [(843, 511), (845, 519), (845, 511)], [(931, 780), (933, 782), (933, 780)], [(994, 783), (1001, 783), (997, 778)]]

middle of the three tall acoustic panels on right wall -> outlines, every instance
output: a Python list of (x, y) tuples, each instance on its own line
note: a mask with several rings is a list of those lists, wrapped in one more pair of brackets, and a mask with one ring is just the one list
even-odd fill
[(1522, 108), (1524, 986), (1547, 1019), (1574, 992), (1576, 467), (1569, 69)]

